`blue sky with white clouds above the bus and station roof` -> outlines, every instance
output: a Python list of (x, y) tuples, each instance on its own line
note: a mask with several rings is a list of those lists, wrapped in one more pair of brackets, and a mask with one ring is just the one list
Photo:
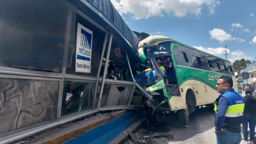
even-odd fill
[(254, 0), (110, 0), (133, 31), (168, 36), (235, 60), (256, 60)]

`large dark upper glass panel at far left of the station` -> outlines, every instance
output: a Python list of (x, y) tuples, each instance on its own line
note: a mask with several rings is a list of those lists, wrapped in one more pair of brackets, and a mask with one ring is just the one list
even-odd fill
[(76, 10), (61, 0), (0, 1), (0, 66), (70, 67)]

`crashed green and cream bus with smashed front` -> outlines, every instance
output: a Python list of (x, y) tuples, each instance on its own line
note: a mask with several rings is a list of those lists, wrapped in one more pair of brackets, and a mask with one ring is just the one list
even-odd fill
[[(149, 36), (138, 42), (135, 81), (153, 96), (146, 102), (153, 115), (156, 110), (177, 111), (181, 124), (188, 124), (196, 107), (212, 105), (217, 99), (215, 85), (220, 76), (237, 82), (228, 60), (216, 57), (165, 36)], [(147, 101), (147, 99), (145, 100)]]

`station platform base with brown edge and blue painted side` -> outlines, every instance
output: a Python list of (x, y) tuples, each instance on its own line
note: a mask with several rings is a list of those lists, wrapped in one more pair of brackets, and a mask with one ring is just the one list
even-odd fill
[(121, 110), (91, 115), (34, 135), (24, 143), (108, 143), (144, 116), (142, 110)]

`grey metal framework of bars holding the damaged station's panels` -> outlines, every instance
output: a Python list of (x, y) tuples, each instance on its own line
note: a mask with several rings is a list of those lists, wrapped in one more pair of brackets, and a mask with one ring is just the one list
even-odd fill
[[(95, 12), (99, 12), (98, 9), (95, 9), (95, 7), (88, 1), (82, 1), (85, 5), (89, 6), (92, 10)], [(99, 12), (100, 13), (100, 12)], [(107, 72), (107, 66), (108, 66), (108, 60), (109, 60), (109, 54), (111, 50), (111, 42), (113, 41), (113, 36), (114, 33), (111, 31), (106, 30), (105, 28), (101, 27), (99, 23), (93, 21), (87, 15), (85, 15), (83, 12), (77, 10), (77, 14), (86, 19), (87, 21), (91, 22), (94, 26), (98, 27), (102, 31), (105, 32), (105, 39), (103, 42), (103, 47), (102, 47), (102, 52), (100, 56), (100, 62), (99, 62), (99, 68), (98, 68), (98, 73), (97, 77), (86, 77), (86, 76), (78, 76), (78, 75), (70, 75), (66, 74), (66, 68), (63, 68), (61, 70), (61, 73), (49, 73), (45, 71), (38, 71), (38, 70), (30, 70), (30, 69), (20, 69), (20, 68), (11, 68), (11, 67), (2, 67), (0, 66), (0, 78), (17, 78), (17, 79), (35, 79), (35, 80), (43, 80), (43, 81), (57, 81), (59, 82), (59, 95), (58, 95), (58, 107), (57, 107), (57, 117), (53, 119), (52, 121), (47, 121), (27, 127), (23, 127), (18, 130), (6, 132), (3, 134), (0, 134), (0, 144), (3, 143), (13, 143), (16, 141), (20, 141), (22, 139), (31, 137), (32, 135), (42, 133), (44, 131), (53, 129), (54, 127), (75, 121), (77, 119), (81, 119), (85, 116), (89, 116), (92, 114), (98, 114), (99, 111), (107, 111), (107, 110), (135, 110), (135, 109), (141, 109), (141, 106), (136, 106), (136, 105), (130, 105), (131, 100), (132, 100), (132, 95), (135, 90), (136, 82), (135, 79), (132, 75), (132, 70), (129, 62), (129, 58), (127, 56), (127, 52), (125, 50), (126, 58), (128, 61), (129, 65), (129, 70), (133, 79), (133, 82), (126, 82), (126, 81), (118, 81), (118, 80), (113, 80), (113, 79), (106, 79), (106, 72)], [(102, 18), (105, 17), (102, 15)], [(71, 19), (71, 15), (69, 15), (69, 19)], [(117, 30), (121, 36), (126, 39), (124, 34), (114, 25), (114, 23), (110, 22), (110, 20), (105, 19), (110, 26), (114, 28), (114, 30)], [(70, 23), (67, 25), (67, 30), (66, 33), (69, 33), (67, 31), (70, 31)], [(66, 34), (66, 36), (69, 36), (69, 34)], [(68, 39), (68, 37), (66, 37)], [(67, 40), (68, 41), (68, 40)], [(126, 39), (126, 42), (132, 47), (130, 42)], [(105, 67), (103, 69), (103, 77), (100, 78), (100, 71), (101, 71), (101, 66), (102, 66), (102, 61), (103, 57), (105, 54), (106, 46), (108, 43), (107, 47), (107, 55), (106, 55), (106, 63)], [(65, 53), (64, 53), (65, 54)], [(67, 54), (67, 53), (66, 53)], [(80, 81), (80, 82), (91, 82), (95, 83), (95, 90), (94, 90), (94, 96), (93, 96), (93, 107), (91, 109), (87, 109), (84, 111), (80, 111), (78, 113), (73, 113), (70, 115), (66, 116), (61, 116), (61, 105), (62, 105), (62, 95), (63, 95), (63, 84), (65, 81)], [(97, 99), (97, 85), (101, 83), (100, 86), (100, 95), (99, 95), (99, 100), (96, 103)], [(102, 98), (102, 93), (103, 93), (103, 86), (105, 83), (110, 83), (110, 84), (121, 84), (121, 85), (127, 85), (127, 86), (133, 86), (132, 87), (132, 92), (130, 95), (130, 99), (127, 105), (122, 105), (122, 106), (111, 106), (111, 107), (100, 107), (100, 102)], [(95, 104), (96, 103), (96, 104)]]

